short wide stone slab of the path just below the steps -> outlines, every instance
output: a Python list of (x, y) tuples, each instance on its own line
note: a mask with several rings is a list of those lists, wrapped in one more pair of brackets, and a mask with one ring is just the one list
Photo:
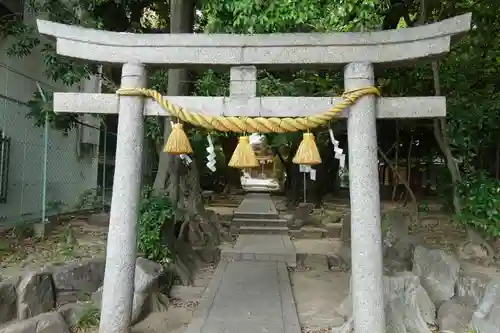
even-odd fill
[(232, 248), (223, 249), (225, 260), (279, 261), (296, 267), (295, 245), (288, 235), (240, 235)]

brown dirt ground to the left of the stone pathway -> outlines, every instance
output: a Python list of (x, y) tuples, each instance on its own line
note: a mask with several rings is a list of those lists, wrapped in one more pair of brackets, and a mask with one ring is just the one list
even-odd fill
[[(54, 228), (43, 241), (20, 238), (16, 231), (7, 232), (0, 245), (0, 281), (18, 276), (23, 270), (52, 263), (73, 262), (103, 257), (106, 253), (108, 228), (91, 225), (84, 218), (73, 218)], [(194, 278), (194, 286), (206, 287), (214, 267), (203, 264)], [(132, 333), (181, 333), (189, 323), (197, 301), (172, 300), (166, 312), (153, 313), (135, 325)], [(77, 333), (97, 333), (97, 327), (86, 327)]]

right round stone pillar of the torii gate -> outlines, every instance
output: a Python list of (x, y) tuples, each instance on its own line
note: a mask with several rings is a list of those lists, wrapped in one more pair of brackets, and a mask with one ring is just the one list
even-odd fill
[[(373, 86), (374, 81), (371, 63), (354, 62), (344, 69), (345, 91)], [(374, 95), (364, 96), (350, 107), (347, 137), (354, 332), (382, 333), (385, 315)]]

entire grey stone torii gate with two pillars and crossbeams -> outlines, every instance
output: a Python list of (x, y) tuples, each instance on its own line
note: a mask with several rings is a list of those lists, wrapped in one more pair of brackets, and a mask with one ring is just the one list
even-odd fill
[[(256, 67), (317, 68), (343, 65), (345, 90), (374, 84), (374, 64), (402, 66), (449, 52), (452, 37), (469, 31), (465, 14), (431, 25), (368, 33), (270, 35), (130, 34), (38, 22), (57, 39), (60, 55), (122, 64), (122, 88), (146, 87), (148, 64), (231, 67), (230, 97), (168, 96), (176, 105), (210, 115), (308, 116), (329, 109), (331, 97), (258, 97)], [(256, 67), (255, 67), (256, 66)], [(136, 222), (141, 187), (143, 117), (168, 116), (140, 96), (55, 93), (56, 112), (119, 114), (116, 169), (102, 298), (101, 333), (129, 331), (134, 290)], [(352, 295), (356, 333), (385, 331), (376, 118), (446, 115), (444, 97), (362, 97), (347, 118)]]

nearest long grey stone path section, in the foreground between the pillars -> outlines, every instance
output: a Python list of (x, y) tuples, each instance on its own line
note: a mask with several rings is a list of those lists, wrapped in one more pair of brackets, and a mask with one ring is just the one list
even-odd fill
[(221, 261), (185, 333), (300, 333), (284, 263)]

